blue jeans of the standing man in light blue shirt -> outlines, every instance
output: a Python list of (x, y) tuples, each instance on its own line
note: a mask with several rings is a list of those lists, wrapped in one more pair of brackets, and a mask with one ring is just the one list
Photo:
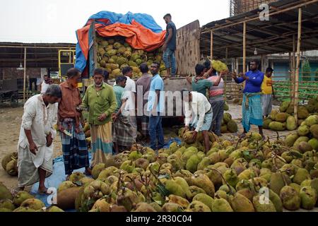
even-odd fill
[[(163, 138), (163, 126), (161, 125), (161, 116), (158, 113), (158, 116), (151, 115), (149, 117), (149, 136), (151, 139), (151, 148), (153, 150), (158, 150), (163, 148), (165, 145), (165, 139)], [(158, 139), (158, 146), (157, 146)]]

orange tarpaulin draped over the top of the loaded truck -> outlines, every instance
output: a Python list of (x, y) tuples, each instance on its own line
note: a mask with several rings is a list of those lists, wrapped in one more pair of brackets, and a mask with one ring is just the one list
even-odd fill
[[(78, 42), (86, 59), (88, 59), (88, 32), (90, 26), (87, 25), (76, 31)], [(161, 47), (165, 42), (166, 31), (155, 33), (143, 27), (135, 20), (131, 24), (114, 23), (112, 25), (95, 24), (95, 30), (102, 37), (122, 36), (126, 37), (126, 42), (134, 49), (143, 49), (151, 52)]]

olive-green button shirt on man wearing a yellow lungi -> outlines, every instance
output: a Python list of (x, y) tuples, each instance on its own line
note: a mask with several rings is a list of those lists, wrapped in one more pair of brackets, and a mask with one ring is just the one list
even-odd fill
[[(96, 91), (95, 85), (88, 86), (81, 107), (88, 108), (88, 123), (103, 125), (112, 120), (112, 113), (117, 108), (116, 97), (112, 86), (102, 84), (102, 89)], [(101, 114), (106, 114), (104, 121), (99, 121)]]

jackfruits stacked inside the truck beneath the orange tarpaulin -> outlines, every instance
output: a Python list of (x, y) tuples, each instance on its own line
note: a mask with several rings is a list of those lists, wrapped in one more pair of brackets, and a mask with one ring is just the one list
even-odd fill
[(160, 49), (154, 52), (144, 52), (140, 49), (133, 49), (124, 41), (124, 37), (100, 37), (96, 38), (98, 43), (97, 67), (110, 73), (110, 79), (122, 75), (121, 69), (124, 66), (131, 66), (133, 69), (133, 78), (139, 78), (141, 71), (139, 66), (146, 62), (150, 66), (154, 61), (160, 64), (160, 74), (165, 75), (165, 65), (163, 63), (162, 52)]

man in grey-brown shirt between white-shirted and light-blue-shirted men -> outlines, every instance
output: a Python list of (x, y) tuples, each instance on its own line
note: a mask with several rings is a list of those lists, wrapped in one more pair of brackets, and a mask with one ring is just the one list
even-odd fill
[[(148, 100), (148, 95), (149, 95), (149, 90), (150, 90), (150, 85), (151, 85), (151, 78), (152, 76), (150, 74), (148, 74), (148, 65), (146, 63), (143, 63), (139, 66), (139, 69), (141, 71), (141, 73), (143, 73), (143, 75), (141, 76), (141, 78), (139, 78), (136, 81), (136, 90), (137, 90), (137, 96), (136, 100), (137, 100), (137, 108), (141, 110), (142, 112), (142, 116), (141, 116), (141, 134), (143, 135), (144, 138), (148, 137), (148, 116), (146, 116), (143, 112), (143, 109), (145, 107), (145, 105), (147, 104), (147, 100)], [(142, 96), (141, 96), (142, 94)], [(141, 105), (142, 103), (142, 108), (139, 107), (139, 105)], [(138, 114), (140, 115), (140, 114)]]

